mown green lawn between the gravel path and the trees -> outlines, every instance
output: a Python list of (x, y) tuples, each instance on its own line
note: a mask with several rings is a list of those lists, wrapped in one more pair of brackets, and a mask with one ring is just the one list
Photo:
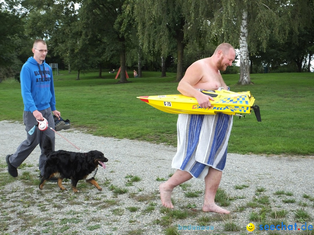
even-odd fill
[[(61, 71), (54, 76), (57, 110), (73, 128), (94, 135), (145, 140), (176, 146), (176, 114), (151, 107), (136, 97), (177, 94), (175, 73), (143, 72), (143, 78), (117, 84), (115, 75)], [(314, 154), (313, 73), (251, 74), (254, 85), (237, 85), (239, 75), (223, 75), (231, 91), (251, 91), (262, 122), (254, 114), (234, 117), (228, 152), (253, 154)], [(0, 120), (22, 121), (20, 84), (0, 83)], [(253, 144), (254, 143), (254, 144)]]

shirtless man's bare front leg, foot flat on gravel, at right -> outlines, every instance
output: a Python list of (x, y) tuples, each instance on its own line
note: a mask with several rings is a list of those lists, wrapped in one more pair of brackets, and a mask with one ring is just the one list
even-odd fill
[(219, 214), (229, 214), (230, 212), (215, 204), (215, 195), (221, 180), (222, 171), (209, 168), (205, 177), (205, 197), (203, 212), (216, 212)]

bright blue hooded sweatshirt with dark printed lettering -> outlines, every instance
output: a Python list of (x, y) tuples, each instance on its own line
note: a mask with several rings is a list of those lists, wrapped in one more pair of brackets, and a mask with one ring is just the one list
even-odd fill
[(43, 61), (40, 65), (31, 56), (20, 73), (24, 111), (34, 112), (51, 107), (56, 110), (56, 98), (51, 67)]

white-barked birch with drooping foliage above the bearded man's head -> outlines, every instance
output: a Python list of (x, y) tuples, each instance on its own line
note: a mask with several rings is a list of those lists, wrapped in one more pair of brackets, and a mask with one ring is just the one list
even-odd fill
[(270, 35), (284, 42), (289, 26), (284, 8), (288, 1), (220, 1), (211, 27), (211, 37), (240, 49), (239, 84), (250, 84), (249, 53), (265, 51)]

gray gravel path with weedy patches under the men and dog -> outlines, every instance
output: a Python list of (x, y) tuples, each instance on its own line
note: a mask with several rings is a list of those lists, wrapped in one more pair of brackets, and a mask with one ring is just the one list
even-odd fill
[[(247, 202), (269, 196), (268, 208), (285, 209), (289, 213), (281, 221), (286, 225), (295, 224), (295, 212), (303, 208), (311, 216), (307, 220), (314, 226), (313, 156), (260, 156), (228, 154), (225, 171), (219, 188), (236, 200), (226, 206), (231, 216), (221, 216), (201, 211), (204, 196), (203, 181), (192, 179), (187, 189), (176, 187), (172, 198), (176, 210), (187, 210), (191, 214), (185, 219), (166, 221), (159, 200), (157, 179), (168, 179), (174, 172), (171, 159), (176, 148), (162, 144), (151, 144), (128, 139), (97, 137), (77, 130), (62, 130), (59, 133), (83, 151), (99, 150), (109, 159), (106, 170), (99, 169), (96, 175), (103, 191), (92, 185), (78, 182), (78, 193), (73, 193), (70, 182), (64, 186), (68, 191), (60, 191), (57, 183), (47, 182), (42, 191), (38, 189), (39, 146), (24, 161), (19, 176), (13, 179), (7, 173), (5, 156), (15, 152), (25, 139), (24, 125), (17, 122), (0, 121), (0, 234), (165, 234), (169, 226), (179, 234), (246, 234), (249, 215), (259, 212), (261, 207), (247, 207)], [(56, 134), (56, 150), (78, 151)], [(140, 181), (127, 186), (126, 176), (138, 176)], [(81, 187), (80, 187), (81, 185)], [(248, 185), (242, 190), (235, 185)], [(117, 194), (113, 188), (127, 189)], [(256, 195), (257, 188), (265, 188)], [(185, 196), (187, 191), (202, 191), (198, 197)], [(274, 195), (276, 191), (292, 192), (292, 196)], [(309, 195), (306, 199), (303, 195)], [(294, 199), (294, 203), (283, 203), (283, 199)], [(301, 204), (302, 203), (302, 204)], [(195, 208), (187, 208), (195, 204)], [(131, 212), (129, 207), (137, 207)], [(198, 219), (209, 217), (212, 230), (177, 230), (178, 225), (197, 226)], [(272, 218), (267, 217), (267, 221)], [(169, 222), (169, 219), (168, 219)], [(233, 222), (240, 229), (225, 232), (225, 223)], [(266, 234), (258, 230), (254, 234)], [(297, 222), (297, 229), (301, 228)], [(288, 231), (287, 231), (288, 232)], [(269, 233), (269, 231), (268, 231)], [(284, 232), (282, 232), (284, 233)], [(301, 234), (300, 231), (290, 232)], [(281, 234), (281, 233), (277, 233)]]

